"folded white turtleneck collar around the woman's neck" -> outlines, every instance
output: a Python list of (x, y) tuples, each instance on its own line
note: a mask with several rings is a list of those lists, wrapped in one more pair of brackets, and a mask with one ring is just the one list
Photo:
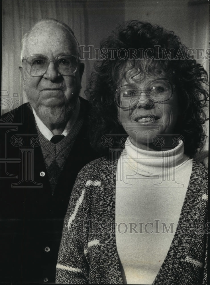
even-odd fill
[(165, 169), (176, 169), (183, 165), (189, 156), (184, 154), (184, 144), (180, 143), (175, 148), (163, 151), (142, 150), (134, 146), (128, 138), (122, 152), (122, 159), (138, 174), (148, 177), (162, 175)]

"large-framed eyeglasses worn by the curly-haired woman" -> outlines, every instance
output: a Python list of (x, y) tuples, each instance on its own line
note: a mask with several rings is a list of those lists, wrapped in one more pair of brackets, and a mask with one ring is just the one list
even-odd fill
[(149, 98), (154, 102), (165, 102), (172, 97), (175, 86), (166, 78), (150, 81), (144, 89), (135, 85), (121, 85), (115, 91), (115, 102), (120, 108), (129, 108), (136, 104), (140, 98)]

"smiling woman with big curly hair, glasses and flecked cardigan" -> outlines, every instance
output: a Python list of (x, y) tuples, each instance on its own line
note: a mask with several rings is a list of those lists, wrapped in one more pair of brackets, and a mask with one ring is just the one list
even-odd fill
[(186, 50), (139, 21), (102, 43), (88, 93), (105, 156), (78, 175), (58, 283), (206, 284), (207, 169), (192, 157), (205, 141), (207, 74)]

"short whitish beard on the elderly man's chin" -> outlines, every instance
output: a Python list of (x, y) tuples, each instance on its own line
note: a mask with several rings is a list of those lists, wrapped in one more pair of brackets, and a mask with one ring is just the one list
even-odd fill
[(42, 118), (50, 124), (59, 125), (67, 123), (72, 113), (75, 110), (77, 100), (69, 103), (68, 105), (48, 107), (44, 105), (38, 105), (34, 102), (30, 102), (30, 106), (34, 108), (36, 115), (42, 120)]

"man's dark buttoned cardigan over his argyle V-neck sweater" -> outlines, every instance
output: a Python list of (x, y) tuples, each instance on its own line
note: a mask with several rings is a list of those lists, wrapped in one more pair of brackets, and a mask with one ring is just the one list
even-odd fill
[(52, 195), (28, 103), (3, 115), (0, 152), (0, 282), (55, 282), (70, 194), (81, 168), (98, 157), (85, 120)]

